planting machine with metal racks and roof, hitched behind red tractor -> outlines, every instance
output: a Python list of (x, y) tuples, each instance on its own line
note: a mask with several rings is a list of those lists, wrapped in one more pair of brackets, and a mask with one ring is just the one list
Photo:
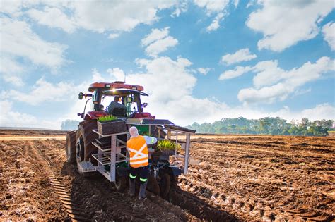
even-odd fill
[[(182, 154), (174, 151), (149, 153), (149, 178), (148, 190), (157, 195), (166, 197), (171, 187), (177, 184), (179, 175), (187, 174), (189, 167), (189, 149), (191, 135), (195, 130), (189, 130), (174, 125), (167, 120), (152, 119), (128, 119), (127, 129), (131, 126), (139, 128), (139, 134), (151, 135), (152, 128), (158, 131), (158, 140), (170, 140), (179, 144)], [(128, 185), (129, 155), (126, 142), (129, 140), (129, 132), (117, 132), (103, 135), (97, 129), (92, 130), (98, 138), (92, 144), (98, 148), (98, 153), (92, 154), (88, 161), (78, 164), (80, 173), (98, 172), (107, 180), (114, 183), (117, 190), (124, 190)], [(165, 135), (163, 138), (161, 135)], [(180, 140), (184, 137), (184, 140)]]

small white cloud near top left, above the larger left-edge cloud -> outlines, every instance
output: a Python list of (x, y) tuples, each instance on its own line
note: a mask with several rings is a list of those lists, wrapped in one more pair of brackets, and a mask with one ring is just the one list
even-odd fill
[(41, 25), (48, 27), (57, 27), (65, 32), (72, 33), (76, 30), (76, 22), (73, 18), (69, 18), (59, 8), (45, 7), (43, 11), (39, 11), (35, 8), (30, 9), (28, 12), (30, 18), (33, 18)]

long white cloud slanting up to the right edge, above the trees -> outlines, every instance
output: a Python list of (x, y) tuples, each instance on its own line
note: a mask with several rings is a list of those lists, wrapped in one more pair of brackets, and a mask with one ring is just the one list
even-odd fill
[(271, 104), (274, 101), (283, 101), (306, 82), (317, 80), (322, 74), (334, 70), (334, 60), (328, 57), (319, 58), (316, 63), (307, 62), (300, 68), (288, 71), (278, 68), (277, 63), (273, 61), (258, 63), (254, 71), (260, 73), (254, 77), (254, 85), (261, 88), (242, 89), (237, 97), (244, 104)]

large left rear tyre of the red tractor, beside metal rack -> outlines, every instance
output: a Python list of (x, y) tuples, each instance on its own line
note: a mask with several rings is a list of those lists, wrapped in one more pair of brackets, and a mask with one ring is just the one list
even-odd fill
[[(98, 138), (98, 135), (93, 132), (93, 129), (97, 128), (97, 121), (90, 120), (84, 121), (79, 124), (79, 128), (76, 134), (76, 161), (77, 167), (82, 161), (89, 161), (92, 154), (98, 152), (98, 148), (95, 147), (92, 142)], [(83, 175), (92, 175), (90, 172), (83, 172)]]

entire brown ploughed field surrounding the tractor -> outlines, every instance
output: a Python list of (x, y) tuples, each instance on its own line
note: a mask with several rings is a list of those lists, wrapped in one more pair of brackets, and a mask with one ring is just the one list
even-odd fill
[(331, 137), (194, 137), (199, 164), (166, 200), (148, 193), (145, 202), (100, 175), (78, 175), (64, 139), (57, 131), (0, 132), (0, 221), (334, 220)]

